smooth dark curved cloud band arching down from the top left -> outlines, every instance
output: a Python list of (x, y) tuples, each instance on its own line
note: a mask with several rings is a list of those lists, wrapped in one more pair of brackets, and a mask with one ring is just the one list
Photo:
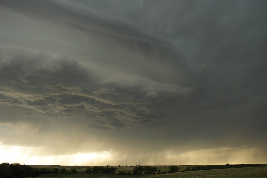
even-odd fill
[[(106, 43), (119, 45), (118, 47), (126, 47), (126, 49), (131, 51), (137, 50), (145, 56), (143, 60), (148, 63), (167, 64), (176, 77), (164, 77), (162, 79), (159, 73), (155, 71), (151, 71), (152, 74), (141, 71), (142, 75), (158, 82), (190, 86), (188, 79), (193, 80), (193, 78), (190, 78), (193, 75), (193, 71), (188, 67), (182, 52), (171, 42), (144, 33), (141, 29), (136, 28), (127, 21), (113, 19), (108, 16), (105, 17), (90, 12), (88, 9), (82, 8), (77, 4), (63, 2), (39, 1), (32, 3), (32, 1), (3, 1), (2, 5), (17, 12), (23, 12), (24, 14), (44, 18), (68, 28), (74, 28), (87, 36), (96, 38), (96, 40), (104, 40)], [(123, 63), (121, 59), (115, 59), (112, 62), (116, 63), (116, 60)], [(128, 69), (128, 67), (127, 64), (126, 68)], [(166, 73), (166, 71), (160, 71), (161, 75), (162, 73)], [(187, 80), (185, 80), (185, 77)]]

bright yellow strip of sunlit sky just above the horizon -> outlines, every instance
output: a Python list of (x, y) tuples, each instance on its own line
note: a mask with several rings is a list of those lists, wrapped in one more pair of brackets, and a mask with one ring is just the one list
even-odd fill
[[(78, 152), (70, 155), (51, 155), (34, 156), (36, 150), (42, 150), (41, 147), (21, 147), (0, 145), (0, 162), (20, 163), (26, 165), (64, 165), (64, 166), (130, 166), (137, 165), (136, 162), (130, 164), (127, 161), (116, 161), (112, 158), (112, 151), (102, 152)], [(38, 151), (39, 152), (39, 151)], [(218, 154), (218, 152), (221, 152)], [(230, 151), (231, 152), (231, 151)], [(255, 161), (255, 148), (245, 148), (241, 151), (232, 151), (229, 154), (229, 148), (206, 149), (187, 152), (180, 155), (171, 155), (166, 152), (166, 160), (159, 164), (148, 164), (146, 161), (142, 165), (222, 165), (222, 164), (264, 164), (264, 159), (257, 158)], [(215, 160), (214, 160), (215, 159)], [(217, 159), (217, 160), (216, 160)], [(168, 161), (169, 160), (169, 161)]]

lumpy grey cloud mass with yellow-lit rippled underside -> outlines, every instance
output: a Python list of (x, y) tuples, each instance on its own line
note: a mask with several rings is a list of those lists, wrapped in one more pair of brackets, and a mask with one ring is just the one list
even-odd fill
[(167, 89), (160, 96), (157, 93), (160, 88), (148, 92), (144, 86), (121, 88), (111, 82), (109, 89), (105, 83), (101, 84), (98, 74), (76, 61), (54, 59), (44, 53), (16, 50), (12, 53), (17, 55), (2, 56), (5, 59), (0, 62), (1, 104), (50, 117), (87, 120), (88, 126), (95, 129), (112, 130), (155, 122), (166, 115), (163, 108), (170, 107), (165, 98), (168, 93), (179, 96), (182, 92), (182, 88), (176, 87), (176, 93)]

